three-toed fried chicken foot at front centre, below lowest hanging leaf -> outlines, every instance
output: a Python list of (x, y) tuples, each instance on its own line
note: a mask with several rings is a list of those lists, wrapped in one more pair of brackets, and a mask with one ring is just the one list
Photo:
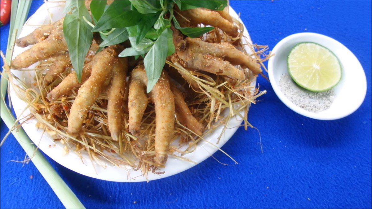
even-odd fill
[[(145, 94), (147, 76), (143, 64), (137, 65), (129, 79), (129, 131), (140, 136), (142, 116), (148, 104)], [(182, 93), (170, 82), (165, 71), (148, 94), (155, 105), (155, 161), (163, 165), (167, 161), (167, 150), (174, 132), (174, 114), (181, 123), (198, 135), (203, 125), (192, 115)]]

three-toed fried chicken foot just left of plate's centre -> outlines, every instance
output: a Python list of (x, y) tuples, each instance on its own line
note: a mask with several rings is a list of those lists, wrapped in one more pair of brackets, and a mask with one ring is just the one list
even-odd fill
[(122, 106), (126, 86), (126, 72), (128, 61), (117, 55), (123, 46), (109, 46), (98, 52), (84, 65), (81, 83), (78, 82), (75, 72), (70, 73), (62, 82), (49, 92), (47, 98), (54, 101), (61, 96), (68, 95), (73, 89), (79, 88), (76, 99), (70, 109), (67, 132), (76, 137), (83, 126), (90, 107), (99, 94), (105, 90), (105, 83), (110, 81), (108, 87), (108, 126), (111, 136), (118, 140), (122, 132)]

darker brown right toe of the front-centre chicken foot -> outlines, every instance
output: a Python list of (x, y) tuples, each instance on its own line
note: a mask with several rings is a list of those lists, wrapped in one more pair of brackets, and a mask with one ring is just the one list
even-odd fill
[(203, 134), (204, 127), (190, 112), (181, 91), (177, 89), (174, 84), (170, 85), (170, 89), (174, 95), (174, 105), (177, 119), (195, 134), (201, 136)]

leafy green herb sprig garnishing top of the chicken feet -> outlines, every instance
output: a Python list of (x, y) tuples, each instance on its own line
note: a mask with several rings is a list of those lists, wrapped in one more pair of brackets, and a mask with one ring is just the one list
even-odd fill
[[(115, 0), (109, 6), (106, 0), (95, 0), (90, 4), (95, 23), (92, 25), (82, 2), (67, 1), (65, 10), (72, 12), (64, 20), (65, 39), (78, 78), (81, 78), (84, 57), (92, 42), (92, 32), (100, 32), (103, 39), (100, 47), (120, 44), (129, 39), (131, 47), (124, 49), (119, 57), (144, 57), (148, 77), (147, 93), (160, 78), (166, 58), (175, 52), (170, 30), (172, 20), (174, 27), (190, 38), (197, 38), (214, 29), (181, 28), (173, 16), (173, 7), (177, 5), (181, 10), (198, 7), (223, 10), (227, 6), (227, 0)], [(83, 16), (89, 24), (83, 20)]]

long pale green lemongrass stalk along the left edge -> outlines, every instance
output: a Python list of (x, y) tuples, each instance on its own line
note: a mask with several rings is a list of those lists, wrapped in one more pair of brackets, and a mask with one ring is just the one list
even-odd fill
[[(16, 39), (17, 31), (25, 23), (28, 11), (31, 6), (31, 1), (12, 1), (12, 11), (10, 18), (9, 39), (7, 45), (7, 53), (4, 65), (10, 63), (13, 54), (13, 46)], [(8, 72), (3, 70), (0, 80), (0, 116), (6, 126), (11, 130), (16, 124), (16, 119), (8, 109), (5, 103), (5, 95), (8, 87)], [(13, 136), (17, 139), (21, 147), (25, 150), (26, 154), (30, 156), (32, 163), (39, 170), (44, 179), (48, 182), (49, 186), (55, 192), (57, 197), (61, 200), (65, 208), (84, 208), (83, 204), (71, 191), (67, 184), (62, 180), (54, 168), (49, 164), (47, 159), (41, 154), (39, 149), (33, 144), (23, 128), (17, 128), (12, 131)]]

